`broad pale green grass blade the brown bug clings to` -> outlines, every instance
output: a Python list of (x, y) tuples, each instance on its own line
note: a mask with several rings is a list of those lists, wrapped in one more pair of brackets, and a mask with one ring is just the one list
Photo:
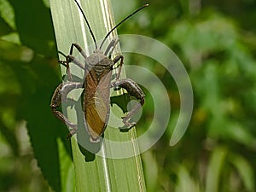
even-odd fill
[[(110, 2), (108, 0), (83, 0), (81, 7), (84, 10), (84, 14), (90, 23), (90, 27), (96, 39), (102, 40), (114, 24)], [(91, 49), (95, 49), (88, 27), (85, 25), (85, 20), (83, 16), (80, 15), (79, 8), (73, 0), (51, 0), (50, 9), (59, 50), (64, 53), (69, 53), (72, 43), (78, 43), (83, 48), (91, 47)], [(116, 37), (116, 35), (114, 36)], [(112, 38), (113, 36), (110, 36), (109, 39)], [(106, 44), (108, 43), (106, 42)], [(89, 54), (87, 49), (85, 49), (85, 52), (87, 55)], [(79, 53), (77, 54), (79, 55)], [(62, 69), (62, 74), (65, 73), (66, 70)], [(82, 76), (83, 70), (79, 67), (73, 67), (72, 73)], [(124, 74), (122, 74), (122, 76), (124, 76)], [(120, 117), (123, 115), (123, 113), (120, 113), (121, 110), (117, 105), (113, 105), (111, 111), (118, 113)], [(68, 110), (68, 119), (72, 122), (76, 122), (76, 113)], [(117, 120), (113, 119), (113, 122), (115, 121)], [(115, 123), (116, 125), (119, 124), (118, 122)], [(82, 150), (79, 148), (75, 137), (72, 138), (76, 190), (90, 192), (146, 191), (142, 162), (138, 155), (139, 148), (135, 139), (135, 129), (123, 133), (118, 129), (107, 127), (104, 137), (108, 141), (118, 141), (119, 143), (128, 142), (128, 144), (113, 148), (111, 143), (103, 142), (101, 150), (102, 155), (96, 154), (95, 158), (90, 159), (85, 153), (86, 161), (84, 159), (84, 153), (82, 153)], [(116, 156), (118, 151), (120, 154), (124, 153), (125, 156), (125, 151), (129, 151), (129, 149), (134, 154), (131, 157), (125, 159), (122, 159), (121, 156), (118, 157), (119, 159), (111, 158)]]

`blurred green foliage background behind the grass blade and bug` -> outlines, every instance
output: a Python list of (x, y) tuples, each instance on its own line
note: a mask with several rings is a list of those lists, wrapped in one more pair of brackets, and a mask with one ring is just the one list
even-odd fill
[[(161, 79), (172, 104), (166, 133), (142, 154), (148, 191), (255, 191), (256, 1), (112, 2), (117, 21), (150, 4), (119, 34), (166, 44), (183, 61), (194, 90), (189, 128), (170, 147), (177, 87), (160, 64), (134, 59)], [(60, 191), (59, 152), (70, 154), (70, 146), (49, 108), (60, 82), (49, 2), (0, 0), (0, 191)], [(150, 108), (147, 103), (143, 125), (150, 123)]]

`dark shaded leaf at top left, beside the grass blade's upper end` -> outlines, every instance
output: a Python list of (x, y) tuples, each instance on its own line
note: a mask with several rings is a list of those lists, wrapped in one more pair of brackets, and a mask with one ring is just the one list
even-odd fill
[(15, 11), (15, 26), (20, 42), (35, 52), (55, 57), (55, 37), (49, 8), (42, 1), (10, 0)]

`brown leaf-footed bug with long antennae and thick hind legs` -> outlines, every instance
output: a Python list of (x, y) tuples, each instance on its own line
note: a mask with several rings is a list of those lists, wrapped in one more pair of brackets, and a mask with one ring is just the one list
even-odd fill
[[(81, 9), (79, 3), (77, 3), (80, 11), (84, 15), (83, 10)], [(137, 9), (131, 15), (134, 15), (139, 10), (147, 7), (148, 4), (144, 5), (140, 9)], [(70, 82), (63, 82), (60, 84), (56, 90), (54, 95), (52, 96), (50, 107), (52, 112), (58, 119), (61, 119), (66, 125), (71, 127), (73, 131), (70, 132), (70, 136), (77, 130), (77, 125), (70, 122), (67, 117), (57, 110), (61, 106), (61, 101), (67, 99), (67, 94), (73, 90), (78, 88), (84, 88), (84, 101), (83, 101), (83, 109), (84, 109), (84, 126), (88, 134), (90, 135), (90, 142), (97, 143), (100, 141), (100, 137), (108, 125), (109, 118), (109, 110), (110, 110), (110, 89), (114, 88), (115, 90), (124, 88), (131, 96), (135, 96), (138, 100), (140, 100), (137, 105), (131, 109), (131, 111), (123, 118), (123, 123), (127, 126), (127, 129), (131, 129), (135, 123), (130, 122), (130, 119), (134, 113), (137, 112), (138, 109), (142, 108), (144, 103), (144, 93), (143, 90), (131, 79), (119, 79), (119, 75), (121, 72), (121, 67), (123, 64), (124, 57), (123, 55), (117, 55), (113, 60), (109, 59), (113, 49), (116, 44), (118, 44), (118, 39), (113, 39), (110, 44), (108, 44), (107, 49), (104, 54), (102, 52), (102, 45), (108, 38), (111, 32), (116, 29), (121, 23), (127, 20), (131, 15), (125, 17), (124, 20), (120, 21), (118, 25), (114, 26), (113, 29), (108, 32), (106, 37), (103, 39), (100, 48), (97, 47), (96, 38), (94, 37), (93, 32), (90, 29), (90, 25), (88, 20), (84, 15), (84, 20), (90, 30), (90, 34), (94, 40), (94, 44), (96, 49), (93, 54), (87, 56), (84, 53), (84, 50), (79, 46), (79, 44), (72, 44), (69, 55), (64, 55), (61, 52), (61, 55), (66, 57), (66, 61), (60, 61), (62, 65), (67, 67), (67, 77)], [(73, 56), (73, 49), (76, 48), (79, 50), (79, 53), (83, 56), (85, 65), (82, 62), (78, 61)], [(109, 55), (109, 56), (108, 56)], [(111, 83), (113, 66), (118, 62), (119, 63), (119, 73), (117, 73), (116, 79)], [(69, 70), (69, 63), (73, 62), (84, 70), (84, 82), (73, 82), (72, 77)]]

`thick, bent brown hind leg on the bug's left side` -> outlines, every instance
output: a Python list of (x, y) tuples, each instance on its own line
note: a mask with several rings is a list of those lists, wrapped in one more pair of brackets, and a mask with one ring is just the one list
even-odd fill
[(77, 130), (77, 125), (70, 122), (69, 119), (67, 119), (67, 117), (63, 113), (57, 110), (57, 108), (61, 107), (61, 102), (67, 102), (67, 94), (71, 90), (82, 88), (82, 87), (83, 87), (83, 83), (78, 83), (78, 82), (61, 83), (55, 89), (55, 92), (51, 98), (51, 102), (49, 105), (55, 117), (57, 119), (60, 119), (63, 123), (65, 123), (67, 126), (73, 129), (68, 135), (68, 137), (71, 137), (75, 133), (75, 131)]

